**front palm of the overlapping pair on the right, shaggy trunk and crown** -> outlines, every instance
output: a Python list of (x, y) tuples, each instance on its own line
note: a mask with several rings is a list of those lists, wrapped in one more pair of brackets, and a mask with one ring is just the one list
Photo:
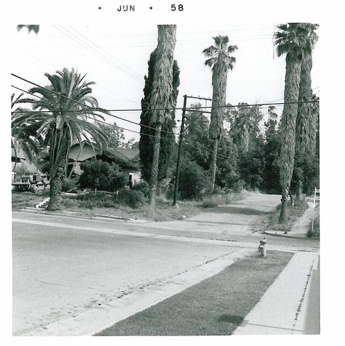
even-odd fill
[(281, 24), (274, 35), (278, 57), (286, 54), (284, 107), (281, 119), (280, 183), (282, 205), (279, 219), (282, 223), (288, 219), (287, 200), (289, 194), (292, 198), (290, 183), (294, 169), (297, 102), (299, 100), (302, 61), (312, 41), (311, 26), (312, 24), (308, 23)]

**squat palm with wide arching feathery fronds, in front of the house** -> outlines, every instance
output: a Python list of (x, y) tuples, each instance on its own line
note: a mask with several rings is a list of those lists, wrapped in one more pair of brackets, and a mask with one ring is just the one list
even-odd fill
[[(60, 208), (60, 193), (67, 172), (69, 148), (73, 143), (86, 140), (91, 147), (102, 149), (107, 145), (107, 137), (89, 118), (103, 118), (98, 111), (96, 98), (90, 95), (90, 85), (85, 75), (75, 69), (63, 69), (55, 75), (45, 74), (50, 85), (35, 86), (30, 94), (38, 99), (23, 98), (18, 102), (30, 103), (34, 111), (19, 111), (12, 116), (12, 131), (19, 138), (27, 133), (35, 133), (36, 138), (44, 138), (43, 145), (49, 149), (51, 191), (49, 210)], [(96, 143), (96, 144), (95, 144)]]

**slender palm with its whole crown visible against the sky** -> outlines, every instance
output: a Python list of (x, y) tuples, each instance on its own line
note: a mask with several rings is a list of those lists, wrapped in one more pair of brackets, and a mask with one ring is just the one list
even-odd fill
[(213, 37), (215, 46), (209, 46), (202, 53), (209, 59), (205, 65), (212, 69), (212, 109), (210, 138), (213, 139), (213, 154), (211, 159), (211, 181), (212, 188), (215, 188), (215, 171), (217, 169), (217, 150), (218, 140), (222, 136), (223, 114), (226, 105), (227, 96), (227, 75), (228, 71), (233, 69), (236, 58), (230, 54), (236, 51), (237, 46), (229, 46), (229, 37), (218, 35)]

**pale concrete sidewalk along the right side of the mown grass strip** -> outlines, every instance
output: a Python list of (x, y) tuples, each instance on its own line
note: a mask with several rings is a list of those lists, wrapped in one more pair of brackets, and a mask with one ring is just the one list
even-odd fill
[(233, 335), (319, 334), (318, 264), (297, 252)]

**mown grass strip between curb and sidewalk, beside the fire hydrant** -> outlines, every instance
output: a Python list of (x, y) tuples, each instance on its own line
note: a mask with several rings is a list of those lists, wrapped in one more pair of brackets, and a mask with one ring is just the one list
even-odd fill
[[(96, 336), (231, 335), (293, 253), (252, 255)], [(274, 303), (274, 302), (272, 302)]]

